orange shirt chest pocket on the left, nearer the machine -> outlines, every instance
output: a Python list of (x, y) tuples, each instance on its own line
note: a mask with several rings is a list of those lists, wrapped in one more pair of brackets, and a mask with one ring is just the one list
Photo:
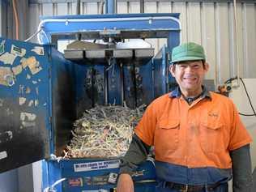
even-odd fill
[(175, 151), (179, 144), (179, 120), (160, 121), (156, 135), (156, 150)]

